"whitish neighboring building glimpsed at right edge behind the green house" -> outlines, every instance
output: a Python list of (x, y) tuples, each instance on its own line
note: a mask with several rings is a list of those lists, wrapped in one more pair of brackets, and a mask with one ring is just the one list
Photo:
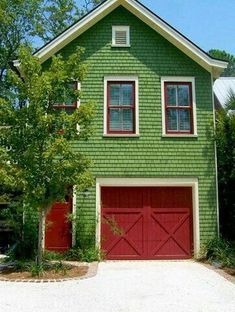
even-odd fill
[(214, 82), (215, 107), (225, 108), (231, 94), (235, 95), (235, 77), (221, 77)]

